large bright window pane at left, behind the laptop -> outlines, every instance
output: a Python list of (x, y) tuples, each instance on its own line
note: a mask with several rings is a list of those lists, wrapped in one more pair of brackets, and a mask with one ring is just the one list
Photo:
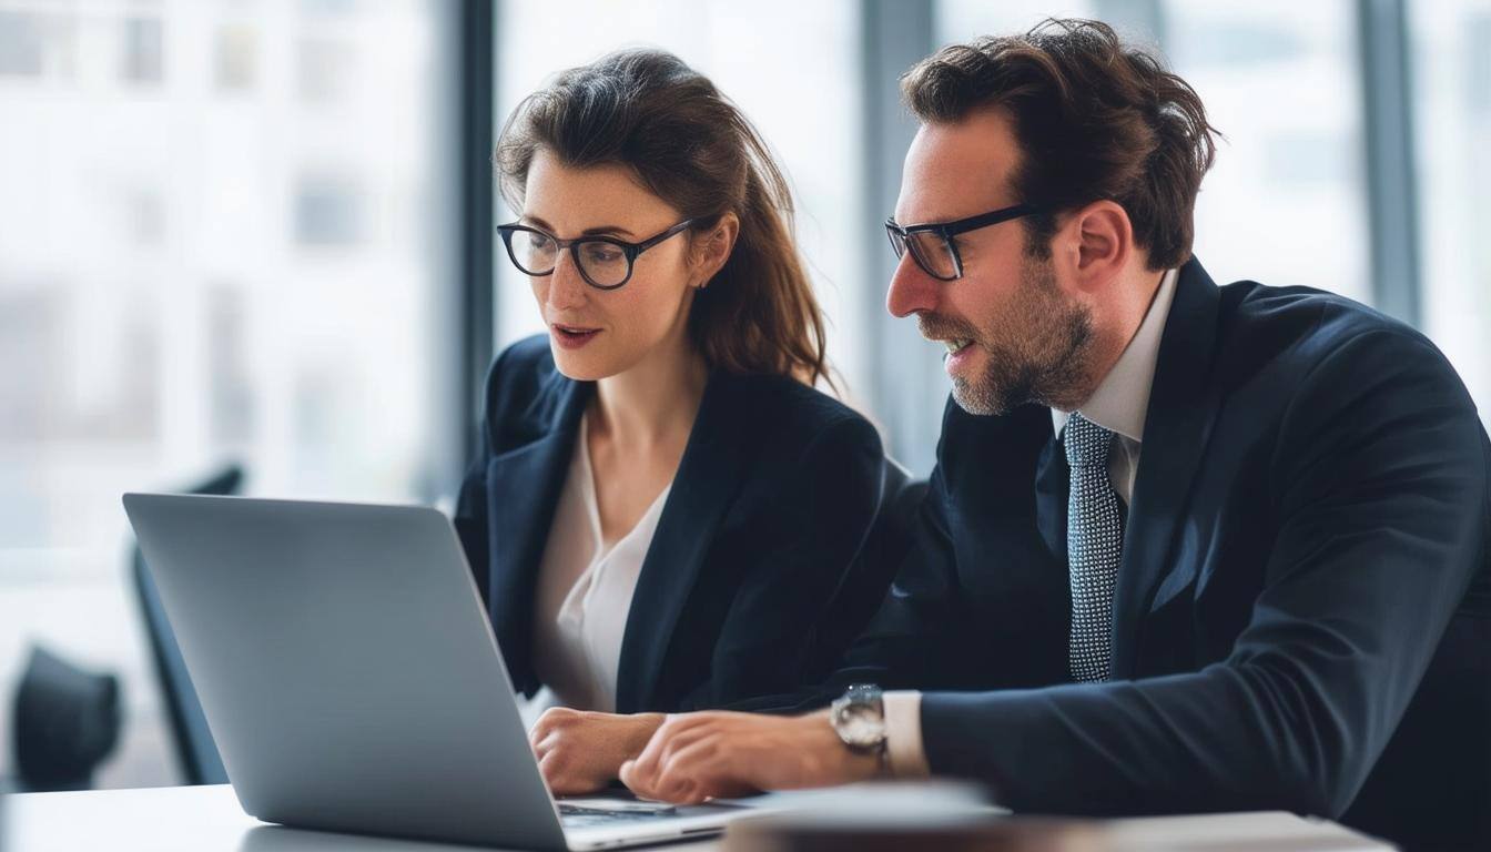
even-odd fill
[(104, 785), (170, 779), (121, 492), (434, 497), (452, 13), (0, 3), (0, 686), (28, 640), (119, 671)]

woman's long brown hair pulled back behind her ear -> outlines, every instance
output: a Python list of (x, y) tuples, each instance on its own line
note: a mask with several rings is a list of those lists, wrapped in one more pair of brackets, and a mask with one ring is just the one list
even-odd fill
[(823, 315), (792, 236), (792, 192), (766, 143), (708, 78), (678, 57), (628, 49), (562, 72), (502, 128), (502, 197), (522, 207), (534, 152), (574, 167), (622, 164), (707, 233), (740, 218), (723, 269), (695, 295), (689, 336), (711, 367), (826, 376)]

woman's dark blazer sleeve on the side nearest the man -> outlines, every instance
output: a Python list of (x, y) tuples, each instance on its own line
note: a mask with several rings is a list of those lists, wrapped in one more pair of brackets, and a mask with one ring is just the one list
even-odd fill
[(680, 710), (780, 694), (804, 682), (817, 630), (875, 519), (884, 454), (859, 416), (833, 421), (795, 460), (781, 519), (735, 591), (710, 679)]

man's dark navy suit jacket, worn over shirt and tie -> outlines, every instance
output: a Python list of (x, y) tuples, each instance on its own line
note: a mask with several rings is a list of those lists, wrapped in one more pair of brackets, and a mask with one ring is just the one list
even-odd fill
[[(1114, 601), (1066, 674), (1050, 409), (948, 404), (917, 540), (835, 682), (918, 688), (935, 773), (1017, 810), (1291, 809), (1491, 848), (1487, 434), (1410, 328), (1181, 270)], [(962, 692), (960, 692), (962, 691)]]

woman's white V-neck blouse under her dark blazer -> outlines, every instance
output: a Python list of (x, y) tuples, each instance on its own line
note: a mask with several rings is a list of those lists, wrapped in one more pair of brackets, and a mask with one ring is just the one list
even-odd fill
[(604, 549), (587, 418), (580, 418), (570, 474), (538, 568), (534, 671), (567, 707), (616, 712), (626, 615), (672, 485), (662, 489), (631, 533)]

